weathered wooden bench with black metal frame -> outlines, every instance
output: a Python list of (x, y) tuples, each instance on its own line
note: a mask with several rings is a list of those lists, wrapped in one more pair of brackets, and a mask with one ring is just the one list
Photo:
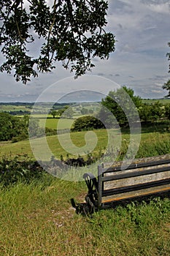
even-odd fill
[(144, 199), (170, 191), (170, 155), (136, 159), (122, 170), (121, 162), (98, 166), (98, 177), (83, 175), (88, 186), (85, 196), (90, 213), (98, 208), (120, 202)]

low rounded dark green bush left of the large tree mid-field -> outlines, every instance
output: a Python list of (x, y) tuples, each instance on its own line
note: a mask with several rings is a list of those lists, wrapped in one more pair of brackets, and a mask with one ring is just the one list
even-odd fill
[(80, 118), (77, 118), (76, 121), (74, 121), (74, 128), (72, 129), (73, 132), (79, 132), (84, 130), (90, 130), (90, 129), (102, 129), (104, 128), (104, 124), (97, 118), (93, 116), (82, 116)]

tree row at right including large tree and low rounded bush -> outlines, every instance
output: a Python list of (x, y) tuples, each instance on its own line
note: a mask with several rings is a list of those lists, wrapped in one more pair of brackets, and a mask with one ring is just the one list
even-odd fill
[[(127, 97), (127, 94), (129, 97)], [(134, 111), (131, 108), (129, 99), (134, 102)], [(126, 113), (123, 111), (123, 108)], [(127, 118), (128, 113), (128, 118)], [(136, 114), (142, 124), (154, 123), (164, 119), (170, 120), (170, 104), (163, 105), (161, 102), (153, 102), (151, 104), (143, 103), (142, 98), (134, 95), (134, 90), (126, 86), (117, 89), (117, 91), (109, 91), (107, 97), (101, 101), (101, 110), (96, 118), (92, 116), (83, 116), (74, 121), (73, 131), (81, 131), (88, 129), (101, 129), (104, 127), (128, 127), (128, 121), (134, 121)], [(101, 125), (101, 120), (104, 125)], [(98, 122), (97, 122), (98, 121)]]

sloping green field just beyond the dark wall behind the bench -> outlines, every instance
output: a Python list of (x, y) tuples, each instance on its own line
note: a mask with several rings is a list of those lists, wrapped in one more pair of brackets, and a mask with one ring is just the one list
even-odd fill
[[(105, 129), (98, 129), (94, 130), (93, 132), (96, 133), (96, 136), (98, 138), (98, 143), (96, 145), (96, 148), (92, 151), (93, 156), (97, 156), (99, 151), (105, 151), (107, 148), (108, 138), (107, 138), (107, 131)], [(86, 132), (72, 132), (71, 138), (72, 142), (77, 147), (85, 146), (85, 134)], [(58, 135), (60, 136), (61, 140), (66, 139), (66, 134)], [(138, 136), (138, 135), (134, 135)], [(119, 139), (117, 131), (112, 131), (112, 138), (113, 138), (113, 148), (116, 148), (117, 140)], [(42, 138), (36, 138), (33, 140), (34, 146), (43, 149), (42, 146)], [(67, 151), (63, 149), (61, 144), (58, 141), (58, 137), (56, 135), (53, 136), (47, 136), (47, 143), (50, 147), (50, 150), (53, 152), (56, 158), (60, 159), (61, 155), (63, 155), (64, 158), (66, 158), (66, 155), (68, 154)], [(67, 141), (66, 141), (67, 143)], [(122, 134), (122, 146), (120, 148), (120, 159), (123, 157), (125, 152), (127, 151), (129, 143), (129, 135), (128, 132), (125, 133), (125, 130)], [(68, 143), (67, 143), (68, 145)], [(0, 157), (4, 155), (10, 155), (15, 156), (16, 154), (27, 154), (29, 157), (34, 158), (29, 140), (20, 141), (18, 143), (0, 143)], [(43, 152), (43, 151), (42, 151)], [(86, 154), (88, 154), (85, 151)], [(141, 143), (139, 147), (139, 151), (136, 155), (136, 157), (149, 157), (149, 156), (155, 156), (159, 154), (168, 154), (170, 153), (170, 133), (166, 132), (152, 132), (152, 128), (147, 128), (142, 132), (142, 138)], [(46, 156), (44, 156), (46, 157)], [(70, 157), (72, 157), (72, 154), (70, 154)]]

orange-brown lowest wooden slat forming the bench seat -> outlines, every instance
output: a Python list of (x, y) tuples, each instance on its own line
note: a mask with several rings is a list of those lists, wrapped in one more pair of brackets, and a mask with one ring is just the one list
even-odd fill
[(131, 192), (120, 193), (118, 195), (110, 195), (108, 197), (102, 197), (101, 203), (110, 203), (114, 201), (137, 198), (137, 197), (142, 197), (144, 195), (153, 195), (159, 192), (168, 192), (168, 191), (170, 191), (170, 184), (166, 184), (166, 185), (158, 186), (154, 188), (141, 189), (136, 192), (131, 191)]

